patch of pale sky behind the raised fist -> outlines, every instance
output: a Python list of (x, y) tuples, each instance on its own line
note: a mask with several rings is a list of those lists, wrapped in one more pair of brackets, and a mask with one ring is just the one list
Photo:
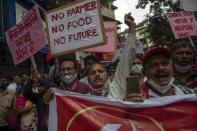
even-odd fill
[(116, 0), (114, 5), (118, 7), (115, 10), (115, 18), (119, 20), (123, 24), (121, 27), (121, 32), (128, 28), (127, 25), (124, 24), (124, 15), (126, 13), (131, 12), (131, 15), (135, 18), (136, 24), (142, 22), (145, 19), (145, 15), (149, 13), (149, 7), (145, 9), (136, 9), (136, 5), (138, 0)]

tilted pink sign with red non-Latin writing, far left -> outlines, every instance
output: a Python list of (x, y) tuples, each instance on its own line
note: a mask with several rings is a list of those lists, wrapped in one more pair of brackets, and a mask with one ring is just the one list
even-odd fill
[(15, 65), (33, 56), (46, 45), (37, 6), (34, 6), (21, 22), (6, 31), (6, 38)]

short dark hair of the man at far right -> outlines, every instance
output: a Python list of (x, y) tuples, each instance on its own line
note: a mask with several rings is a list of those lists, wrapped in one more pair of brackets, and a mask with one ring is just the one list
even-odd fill
[(187, 41), (179, 41), (179, 42), (172, 44), (171, 51), (174, 52), (176, 49), (181, 48), (181, 47), (190, 47), (193, 51), (193, 47), (192, 47), (191, 43), (189, 43)]

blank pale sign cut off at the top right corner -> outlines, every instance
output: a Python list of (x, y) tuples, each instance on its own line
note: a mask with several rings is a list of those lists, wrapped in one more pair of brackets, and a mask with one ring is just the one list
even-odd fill
[(180, 8), (186, 11), (197, 11), (197, 0), (180, 0)]

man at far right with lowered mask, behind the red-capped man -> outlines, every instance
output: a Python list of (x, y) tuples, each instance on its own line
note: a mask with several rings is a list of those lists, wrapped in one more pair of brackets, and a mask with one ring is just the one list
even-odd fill
[(197, 82), (194, 81), (197, 78), (197, 72), (194, 70), (194, 65), (192, 65), (194, 56), (192, 45), (186, 41), (177, 42), (172, 45), (171, 51), (176, 80), (188, 85), (190, 88), (196, 87)]

